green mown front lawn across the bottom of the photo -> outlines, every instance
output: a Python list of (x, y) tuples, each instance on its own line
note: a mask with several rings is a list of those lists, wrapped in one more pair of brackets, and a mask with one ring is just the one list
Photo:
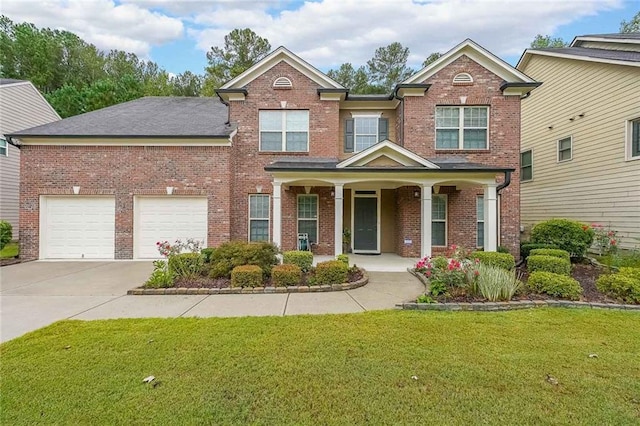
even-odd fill
[(640, 422), (638, 312), (62, 321), (0, 352), (1, 424)]

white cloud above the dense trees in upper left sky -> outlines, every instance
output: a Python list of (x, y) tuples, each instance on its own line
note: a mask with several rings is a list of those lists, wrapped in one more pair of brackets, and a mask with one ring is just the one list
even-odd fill
[(2, 0), (2, 13), (14, 22), (71, 31), (101, 49), (142, 57), (149, 56), (152, 46), (184, 34), (180, 19), (111, 0)]

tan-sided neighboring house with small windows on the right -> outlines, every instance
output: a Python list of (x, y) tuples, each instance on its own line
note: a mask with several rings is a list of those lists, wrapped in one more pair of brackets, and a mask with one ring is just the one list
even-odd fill
[(544, 82), (522, 105), (521, 220), (565, 217), (640, 244), (640, 33), (528, 49), (517, 68)]

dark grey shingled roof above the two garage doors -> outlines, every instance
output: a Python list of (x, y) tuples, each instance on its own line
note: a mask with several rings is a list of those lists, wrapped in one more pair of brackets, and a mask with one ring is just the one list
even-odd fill
[(217, 98), (149, 96), (11, 136), (38, 137), (228, 137), (228, 109)]

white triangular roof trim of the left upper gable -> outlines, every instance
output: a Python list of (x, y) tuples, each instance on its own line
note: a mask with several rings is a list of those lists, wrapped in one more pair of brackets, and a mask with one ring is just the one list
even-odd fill
[(243, 88), (247, 84), (255, 80), (257, 77), (262, 75), (264, 72), (270, 70), (283, 61), (291, 65), (293, 68), (295, 68), (323, 88), (344, 89), (344, 87), (340, 83), (331, 79), (322, 71), (318, 70), (313, 65), (300, 58), (298, 55), (294, 54), (284, 46), (280, 46), (273, 52), (269, 53), (267, 56), (254, 64), (251, 68), (226, 82), (220, 89), (227, 90)]

